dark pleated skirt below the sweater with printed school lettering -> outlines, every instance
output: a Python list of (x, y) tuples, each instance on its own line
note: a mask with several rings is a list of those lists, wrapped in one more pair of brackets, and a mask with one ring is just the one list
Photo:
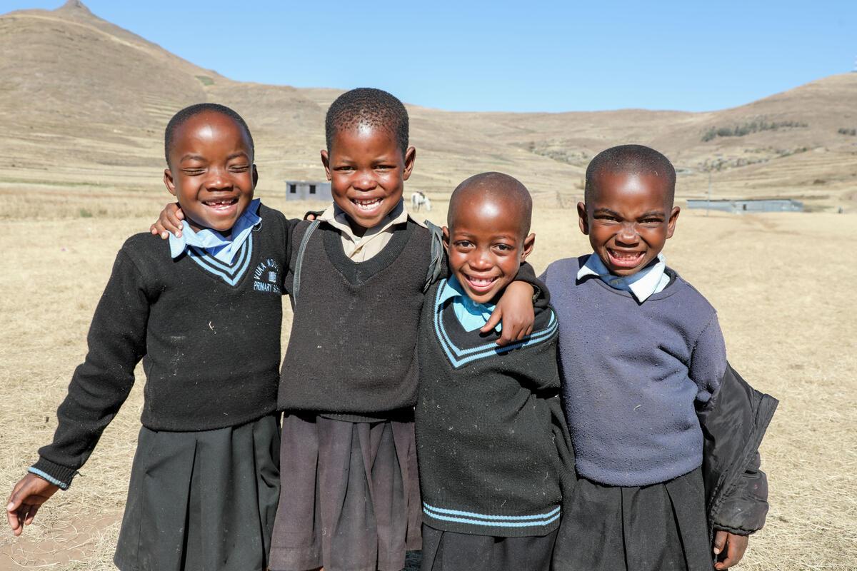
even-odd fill
[(279, 418), (201, 432), (140, 430), (113, 562), (122, 571), (267, 568)]

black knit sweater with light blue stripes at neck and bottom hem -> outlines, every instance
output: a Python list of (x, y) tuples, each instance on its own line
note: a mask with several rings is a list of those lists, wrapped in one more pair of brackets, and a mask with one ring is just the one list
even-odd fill
[(559, 526), (563, 480), (574, 473), (547, 292), (533, 333), (498, 348), (496, 333), (465, 331), (452, 300), (438, 302), (443, 283), (428, 292), (419, 333), (423, 521), (451, 532), (545, 535)]

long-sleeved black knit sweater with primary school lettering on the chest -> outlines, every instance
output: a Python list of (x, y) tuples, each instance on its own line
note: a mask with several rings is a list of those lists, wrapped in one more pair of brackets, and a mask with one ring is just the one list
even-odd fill
[(87, 358), (33, 466), (67, 487), (146, 372), (141, 422), (156, 431), (239, 425), (276, 409), (283, 279), (291, 223), (262, 219), (225, 265), (191, 248), (171, 259), (158, 236), (129, 238), (89, 329)]

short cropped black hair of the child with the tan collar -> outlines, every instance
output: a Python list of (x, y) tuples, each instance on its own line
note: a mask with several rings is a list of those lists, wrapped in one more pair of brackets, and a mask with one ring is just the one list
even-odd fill
[(340, 95), (327, 110), (324, 128), (327, 152), (339, 131), (368, 125), (393, 135), (404, 155), (408, 150), (408, 111), (390, 93), (372, 87), (357, 87)]

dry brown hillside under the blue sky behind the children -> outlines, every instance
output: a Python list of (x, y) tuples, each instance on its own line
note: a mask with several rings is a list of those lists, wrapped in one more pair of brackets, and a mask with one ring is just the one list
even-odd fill
[[(332, 89), (229, 80), (93, 15), (82, 3), (0, 16), (0, 184), (158, 187), (162, 133), (173, 112), (217, 101), (245, 116), (261, 189), (321, 176)], [(683, 173), (680, 194), (802, 196), (839, 205), (857, 184), (857, 74), (814, 81), (729, 110), (452, 113), (411, 106), (418, 164), (411, 187), (448, 193), (481, 170), (517, 175), (542, 200), (580, 193), (598, 151), (640, 142)], [(711, 129), (762, 126), (743, 136)], [(439, 197), (440, 198), (440, 197)]]

